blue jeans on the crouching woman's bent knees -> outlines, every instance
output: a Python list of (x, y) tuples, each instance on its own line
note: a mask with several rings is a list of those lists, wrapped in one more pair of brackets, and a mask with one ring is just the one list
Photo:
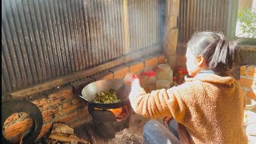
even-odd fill
[(178, 123), (171, 118), (167, 129), (157, 120), (146, 122), (143, 127), (143, 140), (146, 144), (180, 143), (178, 137)]

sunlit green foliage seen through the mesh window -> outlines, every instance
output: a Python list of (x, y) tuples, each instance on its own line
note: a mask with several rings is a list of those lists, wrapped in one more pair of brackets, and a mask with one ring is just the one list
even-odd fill
[(256, 38), (256, 11), (246, 7), (238, 10), (238, 22), (241, 23), (242, 33), (248, 34), (248, 38)]

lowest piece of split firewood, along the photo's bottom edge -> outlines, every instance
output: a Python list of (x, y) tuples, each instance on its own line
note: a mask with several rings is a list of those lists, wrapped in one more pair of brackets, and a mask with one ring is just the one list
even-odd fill
[(76, 142), (76, 143), (83, 142), (86, 144), (90, 143), (90, 142), (86, 142), (84, 139), (78, 138), (74, 134), (53, 133), (53, 134), (50, 134), (49, 138), (58, 140), (61, 142)]

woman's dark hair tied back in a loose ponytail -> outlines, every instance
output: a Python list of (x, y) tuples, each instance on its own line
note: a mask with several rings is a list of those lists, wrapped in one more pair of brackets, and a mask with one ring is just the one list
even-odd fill
[(188, 49), (196, 58), (205, 59), (206, 66), (216, 74), (226, 74), (238, 64), (238, 42), (228, 42), (221, 33), (202, 31), (195, 33), (187, 43)]

